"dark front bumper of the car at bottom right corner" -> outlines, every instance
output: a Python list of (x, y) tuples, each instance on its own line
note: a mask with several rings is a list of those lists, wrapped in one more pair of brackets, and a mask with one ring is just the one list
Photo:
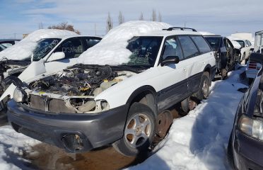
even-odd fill
[(263, 169), (263, 142), (249, 137), (239, 130), (233, 132), (233, 159), (239, 170)]

